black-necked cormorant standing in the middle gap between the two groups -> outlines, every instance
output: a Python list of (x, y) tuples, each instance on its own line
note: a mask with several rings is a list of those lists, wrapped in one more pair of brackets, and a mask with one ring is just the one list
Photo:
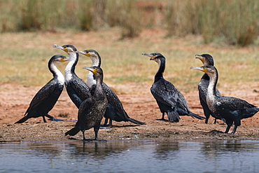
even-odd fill
[(151, 93), (162, 112), (161, 120), (165, 120), (165, 113), (167, 113), (169, 122), (179, 122), (179, 119), (181, 119), (179, 116), (191, 116), (200, 120), (204, 119), (203, 116), (199, 116), (190, 111), (186, 99), (181, 92), (163, 77), (165, 71), (165, 57), (160, 53), (142, 53), (142, 55), (151, 57), (150, 60), (157, 62), (159, 66), (155, 74), (155, 81), (151, 87)]

